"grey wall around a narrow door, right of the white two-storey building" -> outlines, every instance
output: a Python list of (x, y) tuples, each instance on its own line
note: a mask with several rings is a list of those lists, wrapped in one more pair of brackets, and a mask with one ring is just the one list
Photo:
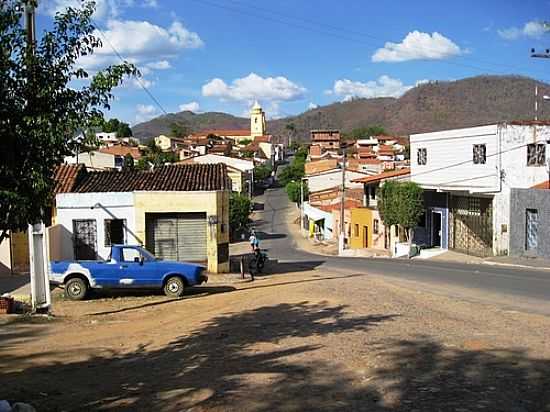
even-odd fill
[[(527, 252), (526, 209), (538, 211), (538, 248), (536, 252)], [(550, 190), (512, 189), (510, 198), (510, 256), (550, 257)]]

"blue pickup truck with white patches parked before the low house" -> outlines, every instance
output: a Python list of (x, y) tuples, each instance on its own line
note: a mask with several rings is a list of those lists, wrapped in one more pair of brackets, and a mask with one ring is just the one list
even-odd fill
[(208, 281), (205, 267), (160, 260), (141, 246), (113, 245), (107, 260), (52, 261), (50, 283), (65, 286), (71, 300), (90, 289), (162, 289), (180, 297), (185, 287)]

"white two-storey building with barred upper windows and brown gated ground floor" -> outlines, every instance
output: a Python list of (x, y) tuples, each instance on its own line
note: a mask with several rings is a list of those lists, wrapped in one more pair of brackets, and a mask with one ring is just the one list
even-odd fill
[(508, 254), (511, 190), (548, 179), (549, 141), (550, 122), (411, 135), (411, 180), (427, 189), (426, 243), (481, 256)]

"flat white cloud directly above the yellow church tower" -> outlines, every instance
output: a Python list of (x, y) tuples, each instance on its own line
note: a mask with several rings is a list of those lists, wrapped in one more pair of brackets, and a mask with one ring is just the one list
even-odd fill
[(203, 96), (236, 101), (291, 101), (302, 98), (305, 92), (305, 88), (286, 77), (264, 78), (256, 73), (235, 79), (231, 84), (216, 78), (202, 86)]

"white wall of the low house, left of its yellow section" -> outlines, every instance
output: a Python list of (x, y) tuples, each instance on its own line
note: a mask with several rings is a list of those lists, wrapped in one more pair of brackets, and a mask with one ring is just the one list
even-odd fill
[[(110, 247), (105, 246), (105, 219), (126, 219), (126, 243), (138, 245), (136, 238), (133, 193), (60, 193), (56, 196), (56, 223), (73, 234), (73, 220), (95, 219), (97, 225), (97, 251), (101, 258), (109, 256)], [(97, 205), (100, 206), (97, 206)], [(93, 207), (93, 209), (92, 209)], [(70, 251), (73, 255), (73, 251)]]

